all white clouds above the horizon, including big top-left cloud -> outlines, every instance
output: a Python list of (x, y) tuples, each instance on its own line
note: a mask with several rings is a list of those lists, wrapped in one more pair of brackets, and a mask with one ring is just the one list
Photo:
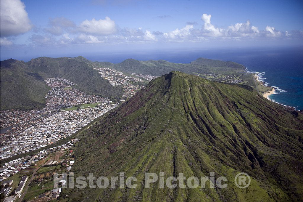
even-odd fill
[[(18, 15), (17, 15), (18, 14)], [(170, 15), (158, 15), (158, 19), (172, 18)], [(67, 45), (67, 44), (128, 44), (151, 42), (203, 42), (209, 40), (259, 40), (259, 39), (303, 39), (303, 31), (280, 31), (271, 25), (258, 28), (247, 20), (220, 28), (211, 22), (212, 15), (201, 14), (200, 23), (184, 22), (169, 32), (128, 28), (117, 25), (114, 19), (106, 16), (104, 19), (83, 19), (76, 24), (65, 17), (49, 18), (44, 26), (32, 25), (20, 0), (1, 1), (1, 45), (18, 45), (15, 36), (35, 29), (25, 45)]]

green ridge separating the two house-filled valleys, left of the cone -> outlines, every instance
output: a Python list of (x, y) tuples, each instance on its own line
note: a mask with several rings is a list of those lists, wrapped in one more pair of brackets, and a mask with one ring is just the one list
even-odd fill
[(122, 94), (120, 86), (112, 86), (97, 71), (89, 66), (89, 61), (79, 56), (76, 58), (40, 57), (27, 62), (28, 69), (38, 73), (44, 79), (61, 77), (77, 83), (75, 86), (88, 94), (115, 98)]

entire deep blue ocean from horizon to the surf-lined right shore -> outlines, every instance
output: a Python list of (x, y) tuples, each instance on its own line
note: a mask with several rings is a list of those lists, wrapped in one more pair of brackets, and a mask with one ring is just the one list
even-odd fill
[(269, 96), (275, 102), (303, 109), (303, 47), (296, 48), (251, 48), (251, 49), (204, 49), (148, 51), (85, 55), (89, 60), (122, 62), (125, 59), (158, 60), (189, 63), (198, 57), (238, 62), (251, 72), (261, 73), (261, 79), (275, 86), (275, 94)]

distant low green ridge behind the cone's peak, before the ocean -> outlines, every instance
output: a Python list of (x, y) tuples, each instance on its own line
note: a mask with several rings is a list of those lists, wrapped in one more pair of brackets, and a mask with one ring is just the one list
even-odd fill
[[(246, 68), (236, 62), (198, 58), (189, 64), (173, 63), (165, 60), (138, 61), (126, 59), (113, 64), (110, 62), (94, 62), (96, 66), (117, 69), (118, 71), (161, 76), (171, 71), (180, 71), (194, 74), (205, 79), (220, 82), (236, 82), (256, 88), (252, 73), (246, 72)], [(269, 90), (270, 88), (268, 88)], [(260, 92), (261, 93), (261, 92)], [(264, 92), (263, 92), (264, 93)]]

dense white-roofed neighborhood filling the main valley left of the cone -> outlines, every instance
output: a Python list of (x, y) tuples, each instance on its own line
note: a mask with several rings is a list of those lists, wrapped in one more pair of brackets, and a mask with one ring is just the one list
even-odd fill
[[(1, 134), (1, 159), (37, 150), (71, 136), (95, 118), (118, 106), (118, 103), (113, 103), (110, 99), (72, 89), (71, 86), (75, 83), (66, 79), (50, 78), (45, 82), (52, 90), (45, 96), (47, 103), (44, 109), (35, 113), (22, 110), (1, 113), (5, 116), (5, 123), (14, 123), (14, 113), (24, 120), (16, 122), (19, 124)], [(76, 107), (72, 108), (73, 106)]]

